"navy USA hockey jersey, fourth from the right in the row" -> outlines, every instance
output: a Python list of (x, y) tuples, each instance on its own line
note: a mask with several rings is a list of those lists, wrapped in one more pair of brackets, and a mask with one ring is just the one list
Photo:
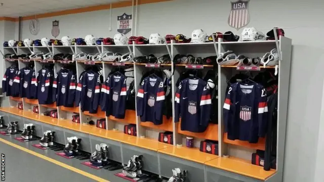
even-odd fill
[(124, 119), (127, 100), (125, 75), (109, 75), (102, 84), (100, 100), (101, 110), (106, 111), (106, 116)]

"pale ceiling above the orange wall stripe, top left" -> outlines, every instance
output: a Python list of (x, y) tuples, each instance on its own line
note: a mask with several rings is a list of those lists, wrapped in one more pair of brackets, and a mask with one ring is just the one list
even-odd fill
[(0, 17), (30, 16), (121, 1), (130, 0), (0, 0)]

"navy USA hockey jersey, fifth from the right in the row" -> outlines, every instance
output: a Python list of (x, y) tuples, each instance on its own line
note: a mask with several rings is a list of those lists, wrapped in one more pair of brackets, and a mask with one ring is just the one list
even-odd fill
[(80, 76), (75, 90), (75, 104), (79, 103), (82, 111), (97, 113), (100, 98), (100, 78), (94, 71), (88, 71)]

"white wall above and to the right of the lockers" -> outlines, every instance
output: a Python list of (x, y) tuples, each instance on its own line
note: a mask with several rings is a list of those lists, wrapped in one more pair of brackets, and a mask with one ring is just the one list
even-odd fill
[[(258, 29), (296, 27), (284, 28), (286, 36), (293, 39), (284, 181), (322, 181), (324, 158), (320, 147), (323, 147), (321, 143), (324, 139), (319, 135), (324, 133), (324, 128), (320, 128), (324, 77), (324, 2), (251, 0), (249, 6), (251, 21), (248, 26)], [(24, 21), (22, 38), (52, 37), (54, 20), (60, 21), (58, 38), (64, 35), (85, 37), (90, 33), (97, 37), (112, 37), (116, 33), (116, 16), (124, 12), (129, 14), (132, 10), (128, 7), (112, 11), (111, 32), (108, 31), (109, 10), (103, 10), (40, 19), (41, 31), (37, 36), (29, 33), (29, 21)], [(209, 34), (228, 30), (240, 33), (241, 30), (236, 32), (227, 25), (229, 11), (229, 1), (221, 0), (175, 0), (141, 5), (138, 8), (138, 35), (148, 37), (150, 33), (159, 32), (163, 35), (183, 33), (190, 36), (192, 30), (198, 28)]]

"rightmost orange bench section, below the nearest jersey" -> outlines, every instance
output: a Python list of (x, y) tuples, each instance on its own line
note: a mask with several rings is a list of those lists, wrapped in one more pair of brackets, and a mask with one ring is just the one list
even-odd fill
[(266, 180), (276, 172), (274, 169), (265, 171), (263, 170), (262, 166), (257, 166), (251, 164), (251, 161), (247, 161), (235, 157), (229, 157), (229, 158), (219, 157), (214, 160), (206, 162), (205, 165), (216, 167), (229, 172), (253, 177), (260, 180)]

